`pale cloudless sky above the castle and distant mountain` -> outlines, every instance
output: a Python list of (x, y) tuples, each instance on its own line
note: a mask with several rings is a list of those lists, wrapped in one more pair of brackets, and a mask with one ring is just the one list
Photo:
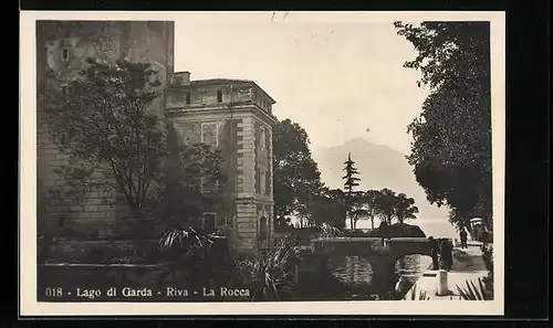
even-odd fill
[[(276, 104), (279, 119), (299, 123), (311, 148), (354, 138), (409, 152), (407, 125), (427, 91), (403, 67), (416, 52), (393, 20), (272, 19), (176, 21), (175, 71), (191, 80), (253, 80)], [(332, 131), (332, 133), (331, 133)]]

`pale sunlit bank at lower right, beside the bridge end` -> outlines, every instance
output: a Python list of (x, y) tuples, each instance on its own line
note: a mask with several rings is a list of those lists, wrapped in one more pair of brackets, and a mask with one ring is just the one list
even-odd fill
[(482, 243), (469, 242), (468, 248), (453, 247), (453, 264), (451, 271), (448, 272), (448, 290), (449, 295), (436, 295), (438, 282), (437, 271), (428, 269), (407, 292), (405, 299), (418, 300), (419, 295), (426, 295), (427, 299), (459, 299), (460, 295), (457, 286), (467, 287), (467, 282), (472, 281), (478, 284), (478, 278), (483, 278), (488, 275), (486, 264), (482, 258)]

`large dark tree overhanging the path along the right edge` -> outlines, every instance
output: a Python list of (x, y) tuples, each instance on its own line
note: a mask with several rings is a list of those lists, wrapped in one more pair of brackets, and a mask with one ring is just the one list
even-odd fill
[[(492, 223), (489, 22), (395, 22), (418, 52), (405, 67), (430, 88), (409, 126), (409, 163), (431, 203), (448, 205), (451, 222)], [(457, 224), (457, 223), (456, 223)]]

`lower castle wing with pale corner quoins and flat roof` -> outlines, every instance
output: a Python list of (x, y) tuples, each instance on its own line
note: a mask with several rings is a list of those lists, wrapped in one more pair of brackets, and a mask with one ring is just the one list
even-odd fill
[(272, 130), (275, 103), (253, 81), (190, 81), (175, 73), (166, 89), (166, 118), (178, 142), (204, 142), (223, 157), (227, 203), (205, 213), (205, 229), (226, 232), (238, 253), (255, 254), (272, 244)]

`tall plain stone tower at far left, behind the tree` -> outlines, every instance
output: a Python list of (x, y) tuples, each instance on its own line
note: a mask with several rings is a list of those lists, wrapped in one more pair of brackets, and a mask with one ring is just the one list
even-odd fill
[[(174, 42), (175, 24), (169, 21), (38, 21), (38, 96), (46, 87), (50, 76), (72, 78), (84, 67), (86, 57), (104, 62), (125, 59), (149, 62), (166, 85), (174, 71)], [(53, 144), (46, 117), (40, 102), (36, 103), (39, 233), (71, 229), (83, 234), (111, 234), (115, 218), (123, 215), (126, 209), (103, 204), (101, 199), (106, 194), (91, 194), (84, 210), (48, 200), (49, 190), (63, 184), (54, 169), (66, 158)], [(152, 108), (163, 114), (163, 105), (164, 99), (159, 98)]]

